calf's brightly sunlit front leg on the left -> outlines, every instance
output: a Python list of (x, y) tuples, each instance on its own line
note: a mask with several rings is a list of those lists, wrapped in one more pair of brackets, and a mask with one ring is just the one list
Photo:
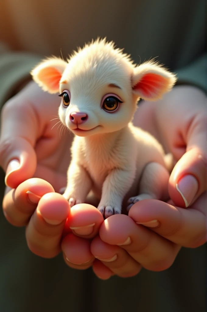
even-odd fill
[(87, 171), (79, 163), (72, 161), (67, 172), (67, 186), (63, 197), (70, 207), (84, 203), (91, 190), (92, 181)]

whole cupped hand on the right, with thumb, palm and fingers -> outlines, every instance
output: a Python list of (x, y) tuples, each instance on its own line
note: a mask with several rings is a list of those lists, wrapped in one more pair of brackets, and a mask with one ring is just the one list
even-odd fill
[[(137, 110), (134, 123), (155, 135), (177, 161), (169, 181), (169, 193), (176, 205), (172, 201), (145, 200), (134, 204), (129, 216), (114, 215), (105, 220), (100, 236), (91, 244), (92, 254), (99, 258), (93, 270), (100, 278), (134, 276), (142, 266), (162, 271), (172, 265), (181, 246), (195, 248), (205, 243), (205, 103), (202, 91), (178, 86), (159, 103), (145, 102)], [(176, 189), (181, 178), (182, 191), (191, 205), (185, 209), (183, 196)]]

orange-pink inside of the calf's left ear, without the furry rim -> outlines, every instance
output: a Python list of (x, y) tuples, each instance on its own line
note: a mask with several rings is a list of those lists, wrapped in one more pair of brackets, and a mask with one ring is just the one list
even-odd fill
[(39, 79), (44, 81), (44, 84), (46, 84), (52, 90), (59, 89), (61, 77), (61, 73), (54, 67), (44, 68), (39, 74)]

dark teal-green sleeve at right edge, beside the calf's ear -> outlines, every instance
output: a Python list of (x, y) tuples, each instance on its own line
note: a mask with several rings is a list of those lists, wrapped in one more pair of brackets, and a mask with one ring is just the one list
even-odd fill
[(204, 90), (207, 93), (207, 55), (204, 54), (190, 65), (176, 71), (177, 84), (190, 84)]

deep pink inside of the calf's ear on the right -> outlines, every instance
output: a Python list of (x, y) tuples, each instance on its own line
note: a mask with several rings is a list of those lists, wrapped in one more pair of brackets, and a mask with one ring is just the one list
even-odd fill
[(145, 74), (142, 79), (137, 82), (133, 90), (139, 91), (143, 96), (159, 94), (166, 88), (167, 78), (154, 73)]

